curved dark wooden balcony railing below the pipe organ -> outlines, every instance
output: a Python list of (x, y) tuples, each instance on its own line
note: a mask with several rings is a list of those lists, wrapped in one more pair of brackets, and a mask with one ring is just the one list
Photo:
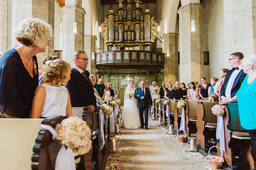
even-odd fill
[(95, 54), (95, 64), (146, 62), (164, 65), (164, 53), (143, 50), (117, 50)]

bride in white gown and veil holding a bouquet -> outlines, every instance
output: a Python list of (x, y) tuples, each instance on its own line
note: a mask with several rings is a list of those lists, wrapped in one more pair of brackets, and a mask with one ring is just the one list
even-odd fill
[[(130, 80), (124, 92), (124, 109), (121, 127), (125, 129), (138, 129), (141, 127), (139, 109), (134, 98), (136, 88), (133, 87), (133, 84), (134, 81)], [(133, 94), (133, 97), (128, 97), (128, 94)]]

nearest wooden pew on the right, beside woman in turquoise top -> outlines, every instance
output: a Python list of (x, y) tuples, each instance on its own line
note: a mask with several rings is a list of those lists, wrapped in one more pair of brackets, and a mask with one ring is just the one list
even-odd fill
[[(222, 116), (224, 120), (225, 151), (223, 158), (230, 169), (234, 166), (234, 150), (241, 150), (241, 164), (248, 169), (254, 168), (253, 156), (251, 153), (250, 136), (240, 124), (238, 104), (227, 104), (224, 108), (225, 113)], [(230, 132), (231, 131), (231, 132)], [(217, 144), (220, 146), (220, 143)], [(218, 155), (220, 155), (218, 151)]]

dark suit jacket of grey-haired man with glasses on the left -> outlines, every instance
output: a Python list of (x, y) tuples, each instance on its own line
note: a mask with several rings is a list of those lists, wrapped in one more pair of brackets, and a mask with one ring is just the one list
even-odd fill
[(70, 80), (66, 85), (72, 107), (84, 107), (88, 105), (97, 107), (92, 82), (88, 76), (87, 79), (77, 69), (72, 68)]

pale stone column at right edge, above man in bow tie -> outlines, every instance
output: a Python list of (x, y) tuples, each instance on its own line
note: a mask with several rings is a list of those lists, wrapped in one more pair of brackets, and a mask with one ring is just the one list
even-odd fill
[(232, 53), (242, 52), (244, 56), (256, 54), (255, 9), (254, 0), (223, 1), (225, 68), (231, 68), (228, 58)]

